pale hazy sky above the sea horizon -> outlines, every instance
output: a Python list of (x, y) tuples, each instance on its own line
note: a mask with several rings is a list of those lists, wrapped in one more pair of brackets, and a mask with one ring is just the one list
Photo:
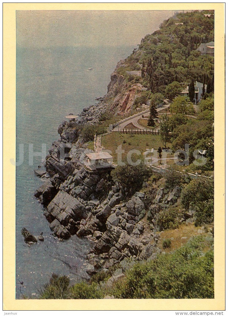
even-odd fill
[(17, 45), (137, 46), (173, 11), (16, 11)]

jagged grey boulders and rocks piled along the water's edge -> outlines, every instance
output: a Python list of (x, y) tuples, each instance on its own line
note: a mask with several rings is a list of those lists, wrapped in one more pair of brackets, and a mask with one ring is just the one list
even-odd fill
[[(108, 94), (116, 82), (120, 84), (117, 76), (112, 74)], [(100, 114), (108, 107), (104, 99), (84, 109), (76, 122), (62, 122), (58, 128), (60, 139), (49, 149), (45, 169), (35, 171), (44, 184), (34, 196), (44, 206), (53, 234), (60, 239), (77, 234), (79, 238), (93, 240), (94, 246), (87, 255), (90, 276), (124, 258), (145, 260), (161, 252), (157, 247), (158, 229), (143, 218), (145, 194), (136, 192), (127, 199), (121, 186), (110, 179), (110, 169), (90, 171), (85, 167), (86, 153), (92, 150), (83, 143), (75, 125), (98, 123)], [(60, 157), (61, 147), (67, 152), (65, 159)], [(179, 190), (166, 195), (160, 190), (155, 195), (153, 214), (161, 209), (159, 204), (175, 203)]]

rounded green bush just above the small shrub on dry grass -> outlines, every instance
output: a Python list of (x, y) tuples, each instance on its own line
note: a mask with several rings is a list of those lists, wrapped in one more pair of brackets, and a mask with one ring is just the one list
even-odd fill
[(168, 209), (164, 208), (158, 213), (156, 225), (160, 231), (168, 228), (175, 229), (178, 228), (179, 219), (178, 208), (171, 206)]

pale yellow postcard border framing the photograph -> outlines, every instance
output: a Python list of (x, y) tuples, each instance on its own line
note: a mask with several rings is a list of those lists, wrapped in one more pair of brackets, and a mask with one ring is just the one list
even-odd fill
[[(183, 300), (15, 300), (15, 166), (10, 163), (10, 158), (15, 158), (15, 11), (200, 9), (215, 10), (215, 298)], [(225, 309), (224, 23), (224, 3), (3, 3), (3, 310)]]

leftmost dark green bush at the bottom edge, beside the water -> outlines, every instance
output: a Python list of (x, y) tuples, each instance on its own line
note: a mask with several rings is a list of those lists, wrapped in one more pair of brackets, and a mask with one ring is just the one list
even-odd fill
[(68, 298), (69, 278), (52, 274), (50, 282), (45, 285), (41, 293), (42, 299), (66, 299)]

